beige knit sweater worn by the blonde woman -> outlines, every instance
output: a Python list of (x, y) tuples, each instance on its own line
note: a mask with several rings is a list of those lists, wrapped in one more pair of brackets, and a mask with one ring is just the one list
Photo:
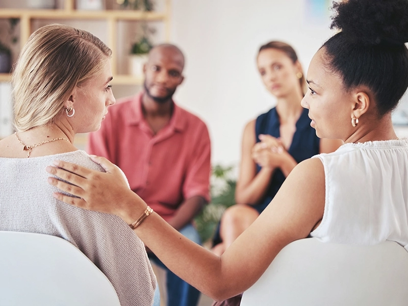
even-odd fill
[(53, 197), (47, 165), (63, 160), (103, 171), (85, 151), (0, 158), (0, 230), (54, 235), (77, 246), (111, 281), (122, 306), (153, 303), (156, 277), (142, 241), (119, 217)]

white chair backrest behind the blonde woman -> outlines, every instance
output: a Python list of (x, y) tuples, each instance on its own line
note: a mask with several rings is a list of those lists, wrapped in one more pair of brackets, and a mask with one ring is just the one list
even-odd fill
[(120, 306), (108, 278), (50, 235), (0, 231), (0, 305)]

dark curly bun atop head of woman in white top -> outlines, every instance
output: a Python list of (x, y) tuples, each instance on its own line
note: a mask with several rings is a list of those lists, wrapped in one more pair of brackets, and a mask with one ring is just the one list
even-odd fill
[(344, 0), (333, 4), (331, 29), (363, 45), (408, 42), (408, 0)]

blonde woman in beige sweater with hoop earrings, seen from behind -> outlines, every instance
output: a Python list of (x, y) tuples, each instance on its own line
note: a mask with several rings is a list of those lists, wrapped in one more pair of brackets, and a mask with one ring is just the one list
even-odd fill
[(104, 171), (72, 143), (115, 103), (110, 56), (92, 34), (61, 24), (24, 45), (12, 77), (16, 133), (0, 141), (0, 231), (62, 237), (106, 274), (121, 305), (152, 305), (156, 278), (140, 239), (117, 216), (53, 198), (44, 171), (56, 158)]

